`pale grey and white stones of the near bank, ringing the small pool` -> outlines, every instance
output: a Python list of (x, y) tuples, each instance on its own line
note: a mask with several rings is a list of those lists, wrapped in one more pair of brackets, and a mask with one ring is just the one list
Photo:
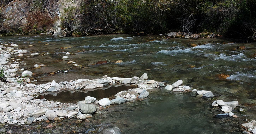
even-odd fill
[[(0, 46), (1, 58), (0, 65), (3, 69), (3, 74), (7, 78), (7, 83), (0, 82), (1, 85), (1, 123), (2, 124), (18, 124), (30, 125), (33, 122), (50, 122), (52, 120), (61, 122), (64, 118), (75, 118), (77, 123), (86, 121), (91, 118), (93, 114), (99, 113), (102, 109), (108, 108), (109, 105), (122, 104), (137, 99), (148, 97), (154, 92), (192, 92), (197, 97), (213, 98), (214, 95), (210, 91), (196, 90), (189, 86), (182, 85), (183, 81), (178, 80), (172, 85), (165, 85), (163, 82), (155, 80), (147, 80), (148, 75), (144, 73), (141, 77), (119, 78), (103, 76), (100, 79), (78, 79), (71, 81), (61, 81), (56, 83), (55, 80), (45, 84), (33, 84), (29, 77), (33, 75), (32, 72), (19, 68), (20, 64), (26, 64), (19, 60), (24, 53), (29, 53), (27, 50), (18, 50), (17, 44), (5, 44)], [(38, 55), (31, 53), (31, 55)], [(35, 65), (40, 67), (46, 65)], [(25, 70), (25, 71), (24, 71)], [(59, 92), (61, 90), (91, 90), (100, 87), (115, 85), (115, 84), (130, 84), (134, 89), (121, 91), (114, 95), (114, 99), (103, 98), (97, 100), (94, 97), (86, 97), (76, 104), (61, 103), (48, 101), (46, 99), (38, 99), (40, 93)], [(216, 115), (217, 118), (237, 118), (239, 116), (233, 113), (233, 109), (238, 105), (237, 101), (224, 102), (222, 100), (212, 99), (213, 108), (223, 111), (226, 114)], [(239, 108), (242, 112), (243, 109)], [(236, 114), (239, 114), (237, 112)], [(255, 133), (255, 121), (242, 124), (245, 130), (243, 133)], [(120, 133), (120, 129), (111, 128), (106, 129), (104, 133), (109, 131)], [(3, 129), (2, 132), (6, 130)]]

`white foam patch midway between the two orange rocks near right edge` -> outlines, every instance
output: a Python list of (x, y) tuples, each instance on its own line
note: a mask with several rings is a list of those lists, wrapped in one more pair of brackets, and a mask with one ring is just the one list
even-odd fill
[(240, 54), (235, 54), (235, 55), (226, 55), (226, 54), (220, 54), (220, 56), (216, 57), (215, 60), (219, 60), (219, 59), (222, 59), (222, 60), (226, 60), (226, 61), (247, 61), (248, 58), (243, 54), (243, 53), (240, 53)]

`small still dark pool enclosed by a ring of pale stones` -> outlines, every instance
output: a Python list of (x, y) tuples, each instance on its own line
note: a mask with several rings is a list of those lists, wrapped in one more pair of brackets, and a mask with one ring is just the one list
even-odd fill
[(93, 91), (86, 91), (86, 92), (74, 92), (74, 91), (65, 91), (59, 93), (52, 93), (48, 92), (48, 95), (40, 95), (38, 98), (40, 99), (47, 99), (48, 101), (58, 101), (61, 103), (76, 103), (78, 101), (83, 101), (85, 97), (91, 96), (95, 97), (97, 100), (106, 98), (109, 96), (114, 96), (120, 91), (129, 90), (131, 89), (130, 86), (111, 86), (107, 89), (96, 89)]

